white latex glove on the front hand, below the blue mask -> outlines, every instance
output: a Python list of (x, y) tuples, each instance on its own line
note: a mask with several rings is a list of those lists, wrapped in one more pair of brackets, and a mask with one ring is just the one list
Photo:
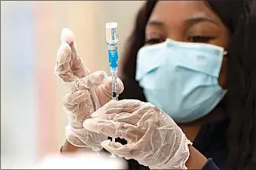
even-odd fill
[(110, 101), (83, 122), (83, 127), (128, 144), (102, 142), (110, 153), (135, 159), (151, 169), (186, 169), (191, 142), (179, 126), (150, 103), (135, 99)]

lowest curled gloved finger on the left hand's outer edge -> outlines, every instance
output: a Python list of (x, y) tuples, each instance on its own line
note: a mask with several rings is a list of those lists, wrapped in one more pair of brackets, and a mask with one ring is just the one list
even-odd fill
[(63, 98), (63, 103), (65, 107), (70, 107), (82, 103), (89, 97), (90, 93), (87, 90), (79, 90), (66, 94)]

